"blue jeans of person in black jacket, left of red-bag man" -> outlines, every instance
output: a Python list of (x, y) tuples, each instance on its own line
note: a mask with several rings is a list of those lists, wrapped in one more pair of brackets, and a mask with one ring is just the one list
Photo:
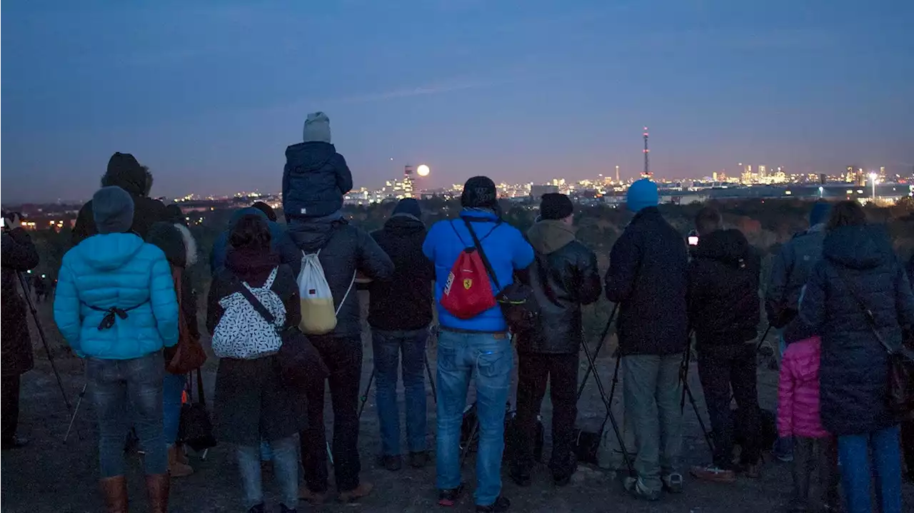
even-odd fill
[(429, 330), (371, 330), (375, 351), (377, 419), (381, 426), (381, 454), (400, 455), (397, 368), (403, 354), (403, 392), (406, 396), (406, 436), (410, 453), (426, 449), (425, 341)]

